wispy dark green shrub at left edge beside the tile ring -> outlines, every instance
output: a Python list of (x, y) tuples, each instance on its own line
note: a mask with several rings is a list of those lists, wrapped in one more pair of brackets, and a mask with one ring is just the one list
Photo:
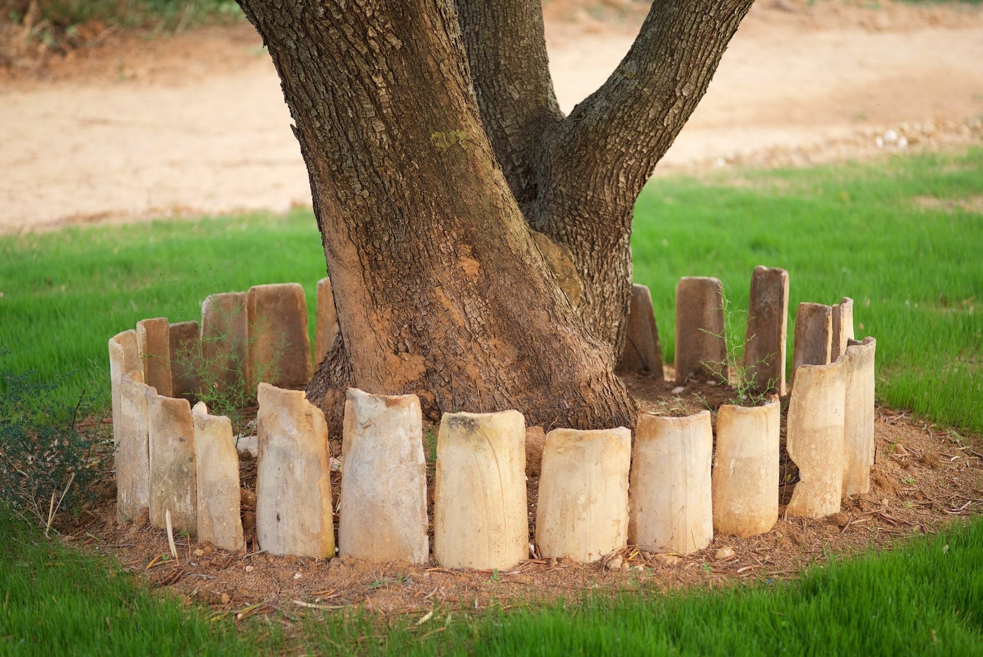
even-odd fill
[(45, 383), (0, 369), (0, 504), (35, 516), (45, 533), (59, 512), (91, 500), (104, 474), (107, 437), (85, 390), (74, 405), (57, 400), (68, 378)]

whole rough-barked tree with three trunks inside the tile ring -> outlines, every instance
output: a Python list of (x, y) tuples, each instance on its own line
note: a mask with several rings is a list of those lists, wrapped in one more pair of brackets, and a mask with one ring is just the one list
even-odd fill
[[(340, 331), (308, 393), (330, 421), (357, 386), (416, 392), (434, 418), (634, 426), (612, 372), (632, 206), (751, 0), (656, 0), (566, 117), (539, 0), (239, 2), (311, 179)], [(572, 261), (576, 309), (530, 228)]]

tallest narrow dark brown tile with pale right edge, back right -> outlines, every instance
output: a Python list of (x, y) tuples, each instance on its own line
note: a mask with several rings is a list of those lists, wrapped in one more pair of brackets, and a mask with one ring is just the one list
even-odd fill
[(744, 367), (760, 392), (785, 393), (787, 331), (788, 272), (758, 266), (751, 274)]

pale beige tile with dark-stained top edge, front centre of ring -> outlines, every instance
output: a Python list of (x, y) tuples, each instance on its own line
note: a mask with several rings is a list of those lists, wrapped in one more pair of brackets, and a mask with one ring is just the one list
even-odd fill
[(525, 435), (518, 411), (443, 414), (434, 484), (440, 566), (506, 569), (529, 556)]

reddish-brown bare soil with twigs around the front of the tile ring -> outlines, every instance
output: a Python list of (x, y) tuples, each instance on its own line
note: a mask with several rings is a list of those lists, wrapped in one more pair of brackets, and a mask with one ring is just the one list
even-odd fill
[[(649, 378), (636, 377), (628, 383), (643, 408), (656, 412), (661, 412), (660, 400), (670, 396), (678, 396), (677, 403), (696, 411), (705, 408), (705, 402), (716, 408), (731, 394), (725, 387), (705, 382), (691, 382), (678, 394), (672, 392), (674, 384)], [(585, 565), (536, 559), (534, 553), (517, 567), (499, 572), (450, 570), (434, 564), (273, 557), (259, 550), (253, 538), (256, 463), (248, 456), (241, 459), (248, 535), (245, 553), (229, 553), (178, 536), (179, 557), (176, 561), (167, 558), (165, 532), (149, 527), (146, 518), (116, 524), (111, 485), (99, 505), (65, 528), (63, 540), (118, 559), (151, 584), (211, 605), (216, 614), (236, 619), (270, 614), (288, 625), (319, 609), (353, 605), (386, 617), (422, 616), (437, 607), (442, 612), (470, 612), (492, 603), (518, 605), (535, 599), (576, 597), (591, 590), (665, 591), (795, 578), (803, 567), (822, 562), (830, 554), (887, 546), (897, 538), (937, 531), (954, 518), (983, 509), (983, 453), (978, 440), (884, 408), (877, 410), (875, 434), (877, 461), (871, 490), (845, 500), (841, 512), (814, 520), (786, 516), (782, 507), (780, 519), (767, 534), (747, 539), (717, 536), (707, 549), (682, 557), (628, 547), (602, 562)], [(340, 439), (331, 437), (329, 444), (331, 453), (337, 455)], [(791, 466), (785, 472), (793, 482), (794, 464)], [(431, 467), (429, 479), (433, 474)], [(340, 474), (332, 473), (335, 501), (339, 483)], [(538, 487), (538, 477), (529, 477), (530, 543)], [(790, 486), (783, 487), (784, 502), (790, 492)], [(430, 506), (433, 518), (433, 501)], [(729, 548), (732, 556), (723, 556), (722, 548)]]

